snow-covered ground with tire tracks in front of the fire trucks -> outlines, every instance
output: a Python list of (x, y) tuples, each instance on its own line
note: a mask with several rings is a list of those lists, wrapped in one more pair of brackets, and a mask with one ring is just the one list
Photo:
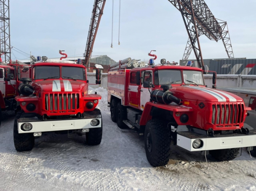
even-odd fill
[(119, 129), (103, 111), (103, 139), (87, 146), (82, 137), (49, 133), (30, 152), (13, 145), (14, 116), (0, 127), (0, 190), (256, 190), (256, 159), (243, 150), (231, 162), (208, 163), (200, 153), (171, 146), (169, 164), (153, 168), (144, 141)]

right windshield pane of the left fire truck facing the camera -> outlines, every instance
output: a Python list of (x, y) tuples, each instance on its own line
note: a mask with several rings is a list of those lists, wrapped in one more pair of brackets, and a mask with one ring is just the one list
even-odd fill
[(61, 77), (63, 79), (69, 78), (69, 79), (80, 79), (85, 80), (85, 70), (84, 68), (80, 67), (61, 67)]

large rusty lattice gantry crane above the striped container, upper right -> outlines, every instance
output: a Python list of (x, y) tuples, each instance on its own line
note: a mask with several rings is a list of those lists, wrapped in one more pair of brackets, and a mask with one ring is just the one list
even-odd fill
[(168, 0), (180, 12), (188, 32), (188, 43), (183, 59), (188, 59), (194, 50), (199, 67), (204, 70), (199, 36), (205, 35), (210, 40), (222, 40), (228, 58), (234, 58), (227, 22), (216, 19), (204, 0)]

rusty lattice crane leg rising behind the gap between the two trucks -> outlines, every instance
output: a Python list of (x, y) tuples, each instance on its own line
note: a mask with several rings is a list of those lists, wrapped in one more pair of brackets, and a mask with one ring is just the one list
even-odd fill
[(86, 49), (85, 49), (85, 60), (84, 65), (87, 67), (89, 65), (90, 57), (92, 54), (93, 44), (95, 42), (96, 34), (99, 28), (100, 19), (103, 14), (103, 9), (106, 0), (95, 0), (92, 10), (91, 24), (89, 28), (89, 33), (87, 37)]

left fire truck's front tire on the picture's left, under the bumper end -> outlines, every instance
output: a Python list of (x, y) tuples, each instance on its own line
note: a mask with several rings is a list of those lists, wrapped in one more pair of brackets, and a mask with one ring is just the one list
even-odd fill
[(17, 119), (22, 115), (23, 112), (18, 112), (14, 119), (13, 126), (13, 140), (16, 151), (31, 151), (35, 145), (35, 137), (33, 133), (18, 133), (18, 122)]

